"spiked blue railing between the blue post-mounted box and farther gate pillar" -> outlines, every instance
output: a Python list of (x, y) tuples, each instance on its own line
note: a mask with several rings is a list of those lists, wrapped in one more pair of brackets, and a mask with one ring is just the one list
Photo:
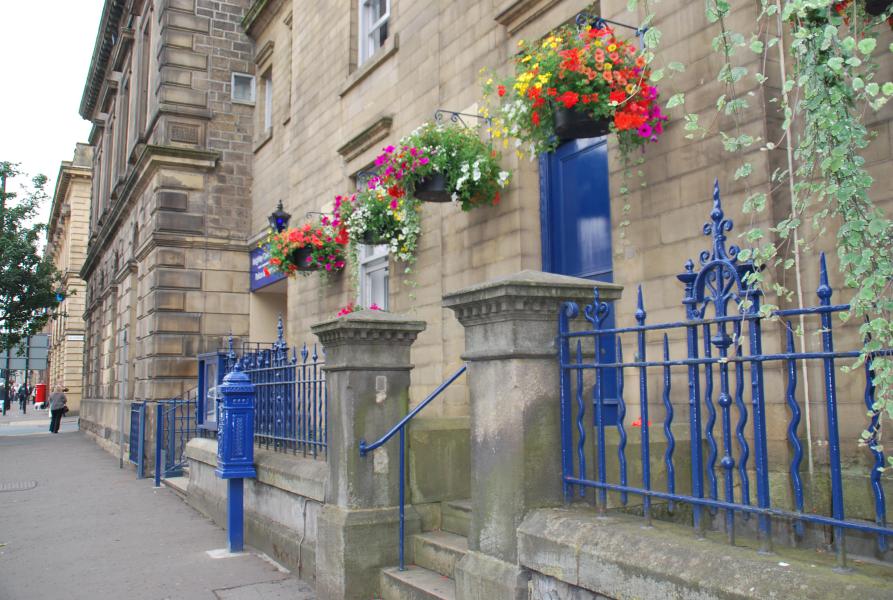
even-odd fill
[(325, 355), (316, 344), (312, 349), (306, 344), (300, 350), (289, 348), (280, 317), (276, 342), (246, 343), (238, 354), (231, 349), (224, 371), (229, 373), (237, 360), (255, 386), (255, 443), (278, 452), (325, 458)]

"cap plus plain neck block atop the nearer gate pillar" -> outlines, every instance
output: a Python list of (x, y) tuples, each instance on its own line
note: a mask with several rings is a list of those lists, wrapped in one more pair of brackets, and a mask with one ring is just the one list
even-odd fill
[[(465, 360), (508, 357), (544, 357), (555, 353), (558, 311), (566, 301), (581, 309), (595, 298), (620, 298), (623, 286), (525, 270), (450, 292), (444, 308), (455, 312), (465, 327)], [(543, 340), (552, 340), (549, 347)]]

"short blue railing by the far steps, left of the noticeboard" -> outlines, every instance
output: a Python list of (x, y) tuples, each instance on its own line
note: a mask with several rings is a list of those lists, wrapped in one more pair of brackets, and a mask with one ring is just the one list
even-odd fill
[(155, 486), (165, 477), (183, 474), (186, 444), (198, 436), (196, 392), (183, 398), (160, 400), (155, 405)]

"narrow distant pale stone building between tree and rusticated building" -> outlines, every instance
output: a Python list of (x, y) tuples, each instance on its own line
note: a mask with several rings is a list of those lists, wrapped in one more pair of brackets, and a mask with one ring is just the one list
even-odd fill
[(46, 382), (68, 388), (68, 407), (74, 414), (81, 405), (84, 374), (82, 315), (86, 287), (80, 270), (87, 253), (92, 153), (87, 144), (78, 144), (74, 157), (59, 167), (47, 230), (46, 255), (52, 258), (61, 274), (65, 299), (58, 309), (61, 317), (48, 325), (50, 352)]

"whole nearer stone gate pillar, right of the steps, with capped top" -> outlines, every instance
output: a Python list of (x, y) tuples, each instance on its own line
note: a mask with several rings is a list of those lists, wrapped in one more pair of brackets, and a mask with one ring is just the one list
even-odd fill
[(621, 286), (522, 271), (444, 296), (465, 327), (471, 395), (471, 530), (457, 597), (527, 598), (516, 530), (527, 511), (563, 503), (556, 336), (565, 300)]

